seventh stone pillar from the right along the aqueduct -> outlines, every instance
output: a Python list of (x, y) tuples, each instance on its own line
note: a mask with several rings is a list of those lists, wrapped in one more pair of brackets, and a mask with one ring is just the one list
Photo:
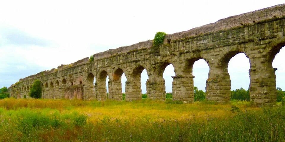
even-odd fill
[(95, 95), (98, 101), (107, 99), (106, 80), (96, 80)]

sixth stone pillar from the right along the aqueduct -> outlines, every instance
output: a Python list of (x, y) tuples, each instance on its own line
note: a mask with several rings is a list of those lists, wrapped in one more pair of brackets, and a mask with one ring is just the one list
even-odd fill
[(120, 80), (109, 81), (109, 99), (122, 100), (122, 83)]

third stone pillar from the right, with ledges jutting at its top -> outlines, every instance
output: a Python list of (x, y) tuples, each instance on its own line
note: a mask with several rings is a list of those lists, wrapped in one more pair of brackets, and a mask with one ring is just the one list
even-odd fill
[(172, 76), (172, 97), (173, 100), (194, 102), (194, 85), (193, 78), (195, 76)]

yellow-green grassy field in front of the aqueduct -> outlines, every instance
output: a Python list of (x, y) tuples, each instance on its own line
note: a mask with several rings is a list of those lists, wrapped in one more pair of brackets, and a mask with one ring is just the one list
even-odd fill
[(0, 141), (285, 141), (285, 107), (3, 99)]

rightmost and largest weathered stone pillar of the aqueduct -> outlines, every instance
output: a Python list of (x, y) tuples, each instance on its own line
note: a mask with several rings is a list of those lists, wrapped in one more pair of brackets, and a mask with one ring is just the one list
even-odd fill
[(249, 92), (255, 104), (276, 103), (276, 70), (266, 59), (251, 59)]

